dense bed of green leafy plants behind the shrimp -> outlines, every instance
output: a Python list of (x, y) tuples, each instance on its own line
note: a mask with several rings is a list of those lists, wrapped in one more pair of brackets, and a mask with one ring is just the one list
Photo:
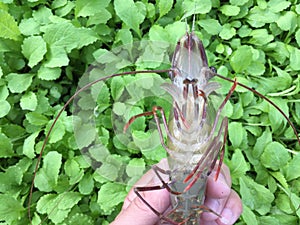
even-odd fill
[[(97, 77), (105, 69), (109, 74), (170, 67), (167, 56), (186, 31), (183, 18), (191, 24), (192, 14), (197, 15), (195, 31), (209, 64), (268, 96), (299, 131), (299, 1), (1, 0), (1, 224), (29, 224), (28, 196), (42, 142), (86, 70)], [(154, 42), (145, 45), (142, 40)], [(129, 57), (134, 64), (108, 53), (133, 41), (144, 49)], [(157, 44), (162, 41), (168, 44)], [(105, 66), (91, 69), (97, 60)], [(115, 132), (112, 115), (125, 121), (155, 104), (168, 114), (170, 104), (161, 97), (134, 99), (146, 91), (147, 96), (157, 93), (155, 84), (164, 80), (166, 74), (114, 78), (89, 92), (96, 107), (82, 95), (83, 100), (67, 108), (36, 177), (32, 224), (113, 220), (132, 184), (166, 154), (153, 118), (139, 118), (122, 136)], [(224, 95), (231, 84), (219, 82), (218, 92)], [(136, 104), (128, 111), (132, 99)], [(244, 207), (237, 224), (299, 224), (300, 148), (291, 127), (273, 107), (242, 88), (237, 88), (224, 113), (230, 119), (225, 163)], [(94, 115), (96, 129), (84, 123), (86, 115)], [(78, 146), (90, 146), (96, 136), (101, 144), (89, 148), (85, 158)]]

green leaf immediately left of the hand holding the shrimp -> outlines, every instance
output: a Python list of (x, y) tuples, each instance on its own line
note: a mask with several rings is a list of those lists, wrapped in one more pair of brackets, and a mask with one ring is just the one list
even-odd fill
[(106, 215), (109, 215), (112, 210), (122, 203), (127, 195), (125, 186), (115, 183), (106, 183), (101, 186), (98, 192), (97, 203)]

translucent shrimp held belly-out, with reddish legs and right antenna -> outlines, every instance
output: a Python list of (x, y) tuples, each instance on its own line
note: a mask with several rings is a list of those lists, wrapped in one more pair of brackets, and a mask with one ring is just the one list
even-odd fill
[[(237, 85), (254, 92), (275, 106), (289, 121), (287, 116), (269, 99), (255, 90), (233, 80), (233, 85), (218, 108), (214, 108), (209, 97), (220, 85), (209, 82), (216, 74), (208, 67), (205, 50), (194, 32), (186, 33), (177, 43), (169, 72), (172, 83), (165, 83), (165, 89), (173, 99), (173, 113), (166, 122), (164, 110), (155, 106), (151, 112), (133, 116), (125, 125), (126, 130), (133, 121), (141, 116), (154, 115), (161, 143), (167, 151), (169, 169), (153, 166), (155, 174), (162, 182), (161, 186), (136, 187), (137, 196), (159, 217), (161, 223), (174, 225), (200, 224), (202, 212), (216, 212), (204, 206), (205, 189), (208, 176), (219, 164), (215, 179), (218, 179), (223, 162), (225, 143), (228, 132), (228, 119), (221, 116), (221, 111)], [(157, 112), (162, 115), (167, 133), (167, 145), (163, 141)], [(290, 121), (289, 121), (290, 122)], [(291, 124), (291, 123), (290, 123)], [(297, 136), (294, 126), (291, 124)], [(297, 136), (298, 137), (298, 136)], [(298, 138), (299, 142), (299, 138)], [(168, 176), (168, 181), (162, 178)], [(144, 191), (167, 189), (170, 192), (171, 210), (165, 213), (154, 209), (140, 194)]]

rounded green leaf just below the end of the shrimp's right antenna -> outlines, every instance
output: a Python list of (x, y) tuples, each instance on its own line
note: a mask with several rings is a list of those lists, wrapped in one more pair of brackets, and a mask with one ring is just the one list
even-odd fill
[(261, 163), (272, 170), (279, 170), (290, 160), (290, 155), (278, 142), (269, 143), (260, 157)]

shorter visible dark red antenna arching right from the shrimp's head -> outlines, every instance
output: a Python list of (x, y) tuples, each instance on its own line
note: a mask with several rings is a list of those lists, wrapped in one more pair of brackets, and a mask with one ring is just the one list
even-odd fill
[[(224, 77), (224, 76), (222, 76), (222, 75), (220, 75), (220, 74), (214, 73), (214, 75), (217, 76), (217, 77), (220, 77), (220, 78), (223, 79), (223, 80), (227, 80), (227, 81), (232, 82), (232, 83), (235, 82), (234, 80), (231, 80), (230, 78)], [(257, 96), (259, 96), (260, 98), (266, 100), (266, 101), (267, 101), (269, 104), (271, 104), (275, 109), (277, 109), (277, 110), (281, 113), (281, 115), (283, 115), (283, 117), (287, 120), (287, 122), (289, 123), (289, 125), (292, 127), (292, 129), (293, 129), (293, 131), (294, 131), (294, 134), (295, 134), (296, 137), (297, 137), (297, 141), (298, 141), (298, 143), (300, 144), (300, 137), (299, 137), (299, 135), (298, 135), (298, 132), (297, 132), (297, 130), (296, 130), (295, 125), (292, 123), (292, 121), (289, 119), (289, 117), (282, 111), (282, 109), (280, 109), (280, 108), (279, 108), (273, 101), (271, 101), (269, 98), (267, 98), (267, 97), (264, 96), (263, 94), (259, 93), (258, 91), (254, 90), (253, 88), (250, 88), (250, 87), (248, 87), (248, 86), (246, 86), (246, 85), (244, 85), (244, 84), (242, 84), (242, 83), (240, 83), (240, 82), (236, 82), (236, 83), (237, 83), (237, 85), (239, 85), (239, 86), (241, 86), (241, 87), (243, 87), (243, 88), (245, 88), (245, 89), (247, 89), (247, 90), (253, 92), (254, 94), (256, 94)]]

